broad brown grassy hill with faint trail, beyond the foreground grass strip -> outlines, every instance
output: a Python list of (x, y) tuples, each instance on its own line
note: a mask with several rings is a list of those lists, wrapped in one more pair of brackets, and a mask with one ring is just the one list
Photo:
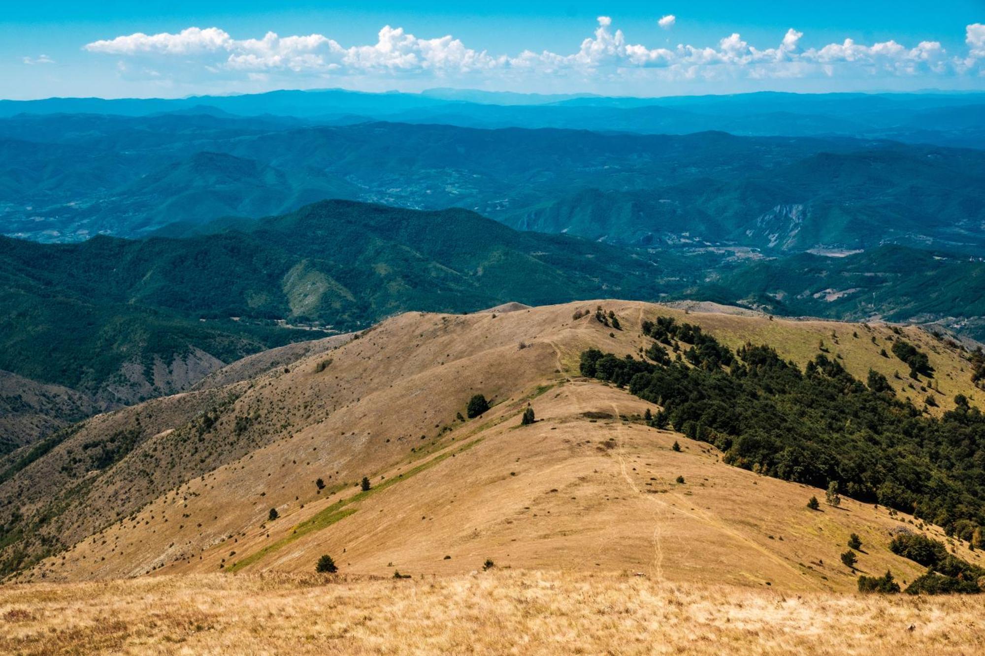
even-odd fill
[[(595, 320), (600, 305), (622, 330)], [(584, 349), (637, 354), (649, 342), (645, 318), (683, 320), (684, 310), (613, 300), (510, 309), (402, 314), (254, 378), (75, 426), (0, 484), (0, 502), (44, 520), (3, 555), (20, 548), (30, 564), (52, 553), (21, 581), (309, 572), (331, 554), (363, 575), (461, 574), (491, 558), (845, 591), (856, 573), (838, 555), (857, 533), (859, 571), (891, 568), (900, 581), (922, 572), (886, 549), (900, 522), (921, 530), (911, 518), (851, 499), (809, 510), (821, 491), (730, 467), (706, 443), (643, 425), (655, 406), (578, 376)], [(766, 343), (801, 364), (824, 340), (857, 377), (876, 368), (900, 395), (914, 393), (892, 375), (902, 363), (880, 356), (888, 326), (714, 312), (686, 320), (729, 346)], [(975, 398), (959, 352), (905, 332), (937, 369), (942, 408), (957, 393)], [(477, 393), (493, 408), (459, 419)], [(528, 404), (537, 422), (520, 426)], [(937, 527), (922, 530), (943, 539)]]

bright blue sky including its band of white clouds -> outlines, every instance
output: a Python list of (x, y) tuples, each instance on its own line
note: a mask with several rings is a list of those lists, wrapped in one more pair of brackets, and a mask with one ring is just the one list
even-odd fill
[(985, 0), (369, 4), (11, 3), (0, 97), (985, 90)]

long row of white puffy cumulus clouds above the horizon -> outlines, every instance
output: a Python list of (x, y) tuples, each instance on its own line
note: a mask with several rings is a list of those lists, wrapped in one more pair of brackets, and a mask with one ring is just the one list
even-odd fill
[[(673, 15), (658, 21), (675, 24)], [(938, 41), (906, 46), (895, 40), (865, 44), (851, 38), (821, 47), (803, 48), (804, 33), (788, 30), (779, 42), (756, 47), (740, 33), (715, 45), (679, 44), (672, 48), (632, 43), (613, 29), (608, 16), (597, 19), (595, 32), (573, 52), (524, 50), (516, 55), (491, 54), (468, 47), (451, 35), (420, 38), (402, 28), (385, 26), (375, 43), (344, 46), (320, 33), (262, 38), (233, 38), (219, 28), (187, 28), (180, 33), (133, 33), (88, 43), (94, 53), (120, 57), (178, 57), (197, 62), (213, 73), (235, 72), (251, 79), (274, 72), (318, 75), (601, 75), (618, 78), (633, 71), (661, 79), (754, 79), (809, 76), (963, 74), (981, 71), (985, 61), (985, 26), (969, 25), (965, 55), (949, 57)], [(43, 56), (42, 56), (43, 57)], [(41, 58), (30, 63), (41, 63)], [(25, 58), (28, 62), (28, 58)], [(654, 70), (657, 69), (657, 70)]]

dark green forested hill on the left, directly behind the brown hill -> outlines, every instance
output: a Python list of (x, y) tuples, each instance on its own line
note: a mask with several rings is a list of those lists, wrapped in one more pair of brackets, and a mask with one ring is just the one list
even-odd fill
[(188, 389), (243, 356), (411, 308), (473, 311), (606, 290), (656, 298), (684, 270), (674, 257), (517, 232), (464, 210), (332, 201), (171, 231), (189, 235), (0, 239), (0, 367), (133, 403)]

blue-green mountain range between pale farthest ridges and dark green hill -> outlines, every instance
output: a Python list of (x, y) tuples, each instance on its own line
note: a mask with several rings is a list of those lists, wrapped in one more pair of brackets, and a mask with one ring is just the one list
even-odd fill
[(648, 247), (985, 245), (985, 152), (891, 141), (74, 114), (0, 120), (0, 156), (0, 229), (40, 241), (342, 198)]

